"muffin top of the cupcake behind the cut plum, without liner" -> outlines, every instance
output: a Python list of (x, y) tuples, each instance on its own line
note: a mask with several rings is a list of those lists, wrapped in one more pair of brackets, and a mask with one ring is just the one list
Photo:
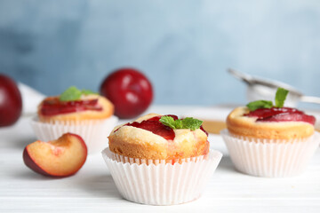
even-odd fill
[(60, 96), (44, 99), (37, 110), (41, 122), (105, 119), (113, 112), (114, 106), (108, 99), (76, 87), (68, 88)]

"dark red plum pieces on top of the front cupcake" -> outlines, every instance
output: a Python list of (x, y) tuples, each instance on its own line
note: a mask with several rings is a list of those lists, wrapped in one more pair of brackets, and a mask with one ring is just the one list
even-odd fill
[[(178, 119), (177, 115), (166, 114), (166, 116), (171, 116), (174, 120)], [(173, 140), (175, 138), (174, 130), (172, 130), (172, 128), (164, 125), (162, 122), (159, 122), (161, 117), (162, 116), (155, 116), (155, 117), (149, 118), (148, 120), (145, 120), (142, 122), (128, 122), (128, 123), (124, 124), (124, 126), (132, 126), (132, 127), (140, 128), (142, 130), (148, 130), (158, 136), (161, 136), (164, 139)], [(202, 126), (200, 127), (200, 129), (203, 130), (206, 135), (208, 135), (208, 133), (204, 130), (204, 128)], [(119, 129), (117, 129), (117, 130), (119, 130)], [(116, 130), (115, 130), (115, 132), (116, 132)]]

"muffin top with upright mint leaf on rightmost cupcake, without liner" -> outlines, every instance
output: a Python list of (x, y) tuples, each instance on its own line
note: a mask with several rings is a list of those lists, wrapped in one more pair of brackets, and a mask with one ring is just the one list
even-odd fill
[(282, 88), (278, 89), (276, 106), (271, 101), (258, 100), (234, 109), (227, 118), (229, 132), (237, 136), (268, 139), (311, 136), (316, 118), (296, 108), (284, 107), (287, 93)]

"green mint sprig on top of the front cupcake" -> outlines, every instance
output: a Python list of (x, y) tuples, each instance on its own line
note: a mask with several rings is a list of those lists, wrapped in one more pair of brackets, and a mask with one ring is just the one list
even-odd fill
[(185, 119), (174, 119), (171, 116), (162, 116), (159, 120), (164, 125), (172, 128), (173, 130), (176, 129), (189, 129), (189, 130), (196, 130), (199, 129), (202, 125), (203, 121), (197, 120), (192, 117), (186, 117)]

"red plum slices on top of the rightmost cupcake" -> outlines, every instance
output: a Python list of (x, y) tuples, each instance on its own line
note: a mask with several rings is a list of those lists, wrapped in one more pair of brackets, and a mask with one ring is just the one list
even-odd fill
[(308, 122), (311, 125), (316, 122), (314, 116), (291, 107), (259, 108), (244, 116), (257, 117), (257, 122)]

